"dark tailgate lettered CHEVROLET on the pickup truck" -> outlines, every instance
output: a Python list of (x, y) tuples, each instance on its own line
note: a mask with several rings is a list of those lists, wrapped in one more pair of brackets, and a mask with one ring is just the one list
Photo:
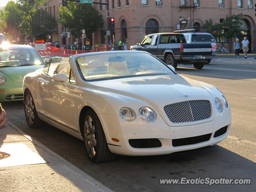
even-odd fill
[(212, 44), (210, 43), (192, 43), (192, 44), (182, 44), (183, 45), (183, 56), (188, 55), (211, 55), (212, 54)]

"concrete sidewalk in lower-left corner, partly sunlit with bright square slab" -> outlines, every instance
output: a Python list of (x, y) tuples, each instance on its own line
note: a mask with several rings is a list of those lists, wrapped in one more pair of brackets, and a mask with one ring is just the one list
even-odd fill
[(10, 122), (0, 129), (0, 191), (112, 192)]

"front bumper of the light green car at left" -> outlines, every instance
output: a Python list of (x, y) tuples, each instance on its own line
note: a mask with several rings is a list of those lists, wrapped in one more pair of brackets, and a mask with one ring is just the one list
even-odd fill
[(15, 87), (0, 86), (0, 91), (1, 91), (0, 102), (23, 100), (22, 83), (21, 83), (21, 86), (15, 86)]

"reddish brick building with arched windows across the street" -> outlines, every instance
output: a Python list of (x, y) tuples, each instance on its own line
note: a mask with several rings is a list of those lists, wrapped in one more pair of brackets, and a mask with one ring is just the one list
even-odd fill
[[(47, 0), (42, 7), (52, 16), (58, 17), (62, 0)], [(106, 2), (106, 0), (94, 0)], [(214, 23), (222, 22), (233, 14), (243, 14), (245, 22), (241, 26), (240, 41), (246, 35), (251, 42), (252, 51), (255, 47), (255, 11), (253, 0), (109, 0), (110, 17), (115, 18), (115, 28), (112, 30), (112, 39), (128, 39), (128, 44), (141, 42), (146, 34), (154, 32), (172, 32), (179, 27), (179, 18), (188, 21), (181, 29), (198, 28), (204, 31), (204, 22), (211, 18)], [(106, 42), (106, 6), (93, 4), (104, 18), (102, 27), (92, 35), (92, 45), (101, 45)], [(62, 38), (60, 34), (66, 29), (58, 24), (58, 29), (50, 32), (49, 41), (62, 44), (73, 44), (75, 38)], [(84, 43), (84, 40), (82, 41)], [(229, 40), (231, 48), (233, 40)]]

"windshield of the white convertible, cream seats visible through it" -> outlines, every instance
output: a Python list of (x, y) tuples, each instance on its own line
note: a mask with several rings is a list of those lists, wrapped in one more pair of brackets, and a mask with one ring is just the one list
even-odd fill
[(174, 74), (164, 63), (143, 52), (108, 52), (76, 58), (85, 80)]

